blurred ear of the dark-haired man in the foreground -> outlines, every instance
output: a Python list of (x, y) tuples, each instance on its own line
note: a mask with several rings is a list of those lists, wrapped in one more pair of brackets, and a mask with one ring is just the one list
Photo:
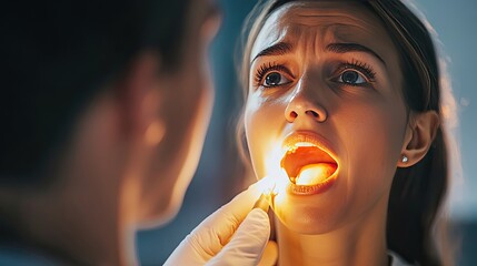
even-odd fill
[(131, 63), (117, 83), (118, 112), (123, 121), (123, 133), (145, 137), (146, 131), (157, 120), (160, 105), (160, 58), (155, 52), (143, 52)]

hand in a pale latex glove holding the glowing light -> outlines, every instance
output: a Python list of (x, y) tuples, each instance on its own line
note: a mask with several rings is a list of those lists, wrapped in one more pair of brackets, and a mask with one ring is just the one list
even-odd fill
[(251, 185), (207, 217), (165, 265), (257, 265), (270, 235), (267, 213), (252, 209), (261, 194), (259, 187)]

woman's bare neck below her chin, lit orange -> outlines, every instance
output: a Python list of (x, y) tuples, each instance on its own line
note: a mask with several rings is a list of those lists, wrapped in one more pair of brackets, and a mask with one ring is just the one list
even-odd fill
[(278, 264), (388, 265), (386, 209), (382, 201), (359, 221), (319, 235), (298, 234), (276, 218)]

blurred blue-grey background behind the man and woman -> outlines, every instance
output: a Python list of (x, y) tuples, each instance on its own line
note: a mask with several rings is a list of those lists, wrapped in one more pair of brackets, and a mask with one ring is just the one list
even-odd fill
[[(210, 49), (216, 102), (205, 150), (181, 211), (172, 223), (138, 233), (141, 265), (162, 265), (173, 248), (205, 217), (228, 202), (249, 182), (236, 147), (235, 129), (241, 108), (241, 90), (233, 63), (235, 48), (245, 17), (255, 0), (218, 0), (222, 27)], [(458, 105), (458, 146), (461, 174), (449, 195), (451, 222), (460, 236), (458, 265), (475, 265), (477, 254), (477, 1), (416, 0), (443, 42), (448, 57), (454, 95)], [(248, 175), (249, 176), (249, 175)]]

